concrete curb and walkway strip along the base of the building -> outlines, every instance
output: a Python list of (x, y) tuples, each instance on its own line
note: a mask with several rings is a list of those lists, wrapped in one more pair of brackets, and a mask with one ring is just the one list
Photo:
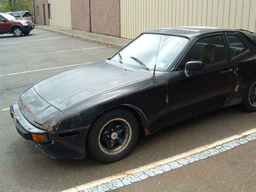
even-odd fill
[(59, 31), (59, 30), (55, 30), (55, 29), (49, 29), (49, 28), (41, 27), (41, 26), (38, 26), (38, 25), (35, 25), (35, 27), (39, 28), (39, 29), (51, 31), (51, 32), (56, 32), (56, 33), (59, 33), (61, 35), (78, 38), (78, 39), (81, 39), (81, 40), (86, 40), (86, 41), (90, 41), (90, 42), (96, 42), (97, 44), (104, 45), (104, 46), (110, 46), (110, 47), (115, 47), (115, 48), (120, 48), (121, 49), (121, 48), (123, 48), (126, 45), (126, 44), (125, 45), (124, 44), (115, 44), (115, 43), (110, 42), (110, 41), (98, 40), (98, 39), (90, 38), (90, 37), (84, 37), (84, 36), (81, 36), (79, 34), (76, 35), (76, 34), (64, 32), (64, 31)]

